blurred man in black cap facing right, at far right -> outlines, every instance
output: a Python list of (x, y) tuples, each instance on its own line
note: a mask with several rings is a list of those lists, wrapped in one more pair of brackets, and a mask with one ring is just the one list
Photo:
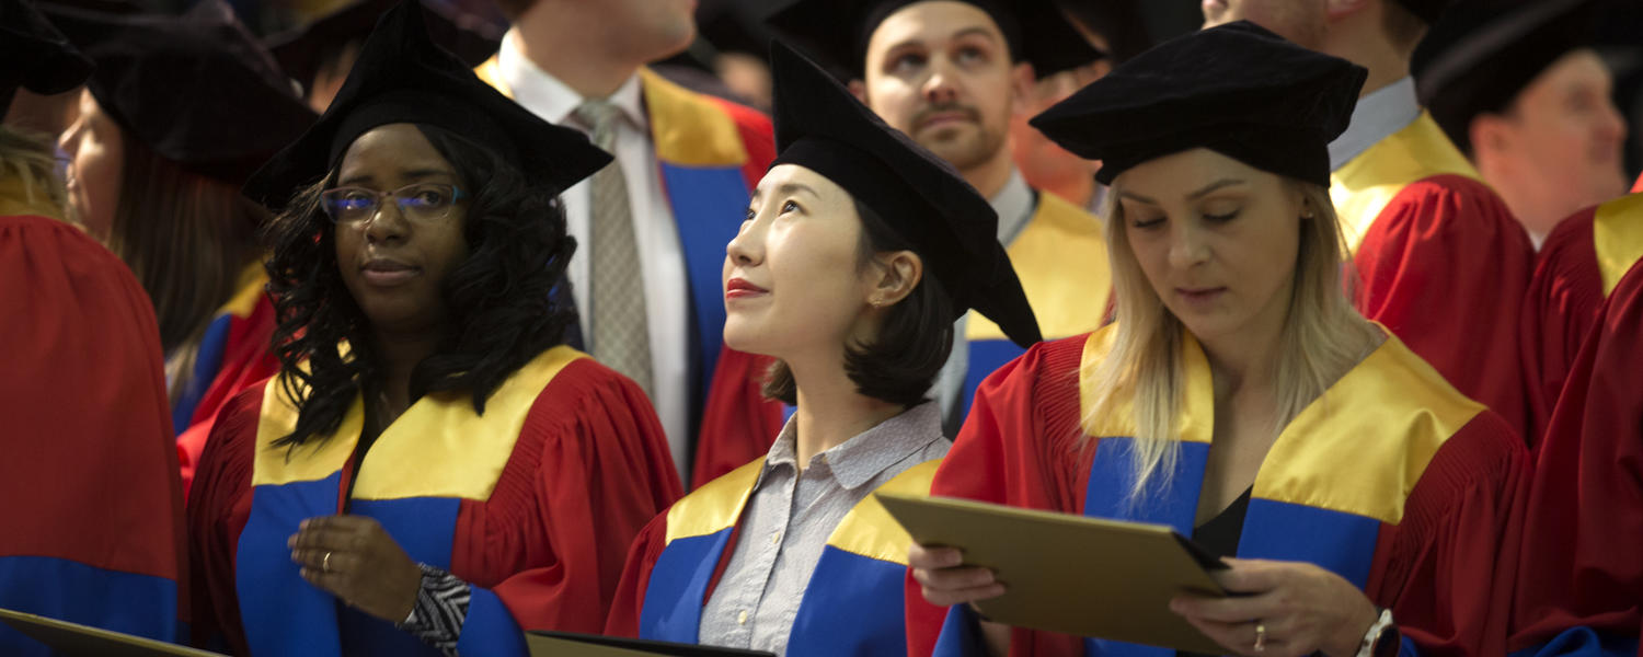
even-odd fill
[(1590, 48), (1592, 0), (1467, 0), (1415, 51), (1421, 102), (1536, 245), (1627, 191), (1627, 122)]

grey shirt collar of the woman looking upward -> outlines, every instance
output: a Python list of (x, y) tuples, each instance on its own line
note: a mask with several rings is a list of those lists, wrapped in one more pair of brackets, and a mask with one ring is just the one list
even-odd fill
[[(759, 485), (775, 468), (798, 462), (798, 419), (789, 417), (764, 458)], [(845, 488), (859, 488), (884, 470), (912, 457), (941, 437), (941, 404), (925, 401), (879, 422), (833, 448), (810, 457), (808, 468), (826, 468)], [(759, 485), (754, 485), (757, 488)]]

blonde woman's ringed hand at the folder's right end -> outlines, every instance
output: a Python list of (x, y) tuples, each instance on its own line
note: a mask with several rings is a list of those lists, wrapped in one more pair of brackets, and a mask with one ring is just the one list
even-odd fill
[[(1375, 624), (1375, 604), (1357, 586), (1311, 563), (1229, 558), (1214, 573), (1234, 598), (1180, 596), (1170, 611), (1239, 655), (1290, 657), (1357, 654)], [(1255, 627), (1265, 627), (1255, 649)]]

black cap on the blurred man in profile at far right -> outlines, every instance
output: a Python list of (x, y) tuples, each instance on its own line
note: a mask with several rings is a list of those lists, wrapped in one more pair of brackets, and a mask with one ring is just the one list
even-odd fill
[(1470, 0), (1415, 49), (1415, 87), (1438, 125), (1472, 151), (1472, 118), (1498, 113), (1546, 67), (1590, 43), (1590, 0)]

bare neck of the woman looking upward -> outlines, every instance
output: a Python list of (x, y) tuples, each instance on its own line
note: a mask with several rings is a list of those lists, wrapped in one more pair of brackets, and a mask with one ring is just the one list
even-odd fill
[(874, 399), (856, 391), (845, 373), (843, 348), (810, 360), (784, 360), (798, 391), (794, 412), (798, 432), (798, 468), (810, 458), (861, 435), (881, 422), (900, 416), (900, 404)]

